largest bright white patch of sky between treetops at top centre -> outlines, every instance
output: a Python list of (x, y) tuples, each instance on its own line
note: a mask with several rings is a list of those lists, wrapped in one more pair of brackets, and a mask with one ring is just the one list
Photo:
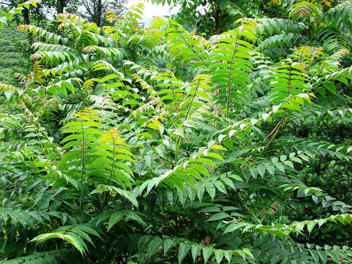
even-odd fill
[(172, 15), (176, 14), (180, 8), (173, 7), (170, 11), (170, 6), (166, 3), (164, 6), (162, 5), (152, 5), (151, 2), (143, 1), (143, 0), (130, 0), (128, 1), (127, 6), (131, 7), (132, 5), (137, 5), (140, 2), (144, 4), (144, 14), (141, 15), (143, 22), (145, 24), (149, 24), (149, 22), (153, 19), (153, 17), (158, 17), (162, 15)]

